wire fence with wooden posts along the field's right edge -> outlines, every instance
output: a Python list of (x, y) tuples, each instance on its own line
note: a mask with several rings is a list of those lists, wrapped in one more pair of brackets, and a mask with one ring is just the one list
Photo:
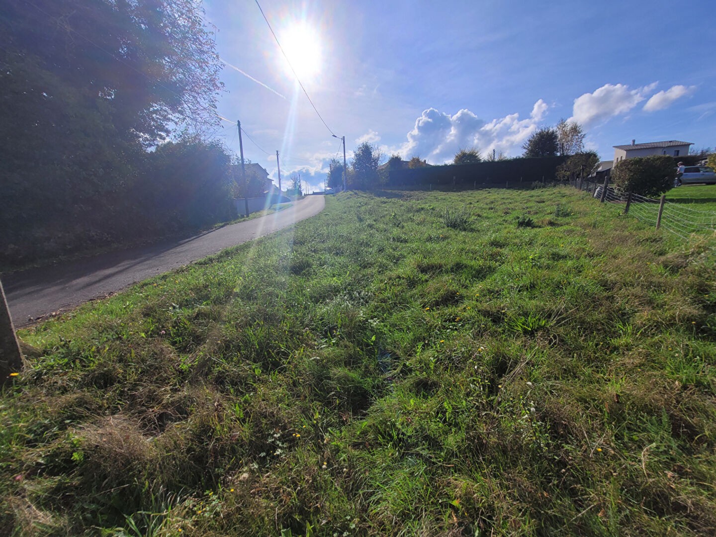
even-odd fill
[(687, 203), (667, 200), (666, 195), (655, 200), (636, 193), (619, 193), (609, 186), (609, 178), (578, 178), (570, 180), (569, 184), (602, 202), (624, 205), (624, 214), (684, 239), (712, 236), (716, 232), (716, 211), (699, 211)]

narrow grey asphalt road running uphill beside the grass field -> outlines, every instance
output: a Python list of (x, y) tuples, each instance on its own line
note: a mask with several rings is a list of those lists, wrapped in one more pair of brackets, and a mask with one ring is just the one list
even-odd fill
[(44, 266), (2, 276), (2, 284), (16, 326), (67, 311), (92, 299), (125, 289), (138, 281), (274, 233), (323, 211), (322, 195), (309, 195), (291, 207), (183, 241), (172, 241), (92, 258)]

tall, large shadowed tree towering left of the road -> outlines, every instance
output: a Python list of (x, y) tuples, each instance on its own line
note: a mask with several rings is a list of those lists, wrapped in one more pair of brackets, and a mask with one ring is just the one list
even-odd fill
[(202, 16), (198, 0), (3, 2), (0, 262), (140, 235), (147, 150), (218, 125)]

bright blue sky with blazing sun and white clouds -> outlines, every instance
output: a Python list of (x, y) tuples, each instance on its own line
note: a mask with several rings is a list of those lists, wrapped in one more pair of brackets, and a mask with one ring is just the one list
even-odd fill
[[(716, 26), (706, 1), (263, 0), (328, 128), (251, 0), (205, 0), (228, 92), (218, 112), (261, 147), (244, 153), (276, 183), (322, 188), (346, 137), (433, 164), (460, 147), (509, 156), (540, 126), (574, 118), (586, 145), (716, 145)], [(248, 76), (247, 76), (248, 75)], [(238, 153), (236, 127), (221, 137)], [(342, 150), (339, 155), (342, 156)], [(387, 157), (386, 157), (387, 158)]]

